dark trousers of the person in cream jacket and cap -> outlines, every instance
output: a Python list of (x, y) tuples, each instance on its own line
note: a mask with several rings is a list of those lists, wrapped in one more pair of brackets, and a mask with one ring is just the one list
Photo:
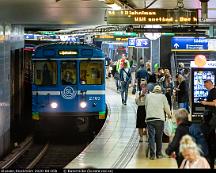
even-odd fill
[(156, 143), (156, 156), (161, 155), (162, 150), (162, 137), (164, 130), (164, 122), (161, 120), (147, 122), (147, 128), (149, 133), (149, 148), (150, 156), (155, 157), (155, 143)]

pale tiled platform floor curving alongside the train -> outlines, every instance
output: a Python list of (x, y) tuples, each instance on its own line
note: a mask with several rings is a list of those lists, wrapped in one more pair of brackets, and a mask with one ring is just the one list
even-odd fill
[[(129, 90), (127, 106), (122, 105), (113, 79), (107, 80), (106, 98), (110, 107), (104, 127), (89, 146), (65, 168), (176, 168), (174, 159), (149, 160), (146, 143), (139, 143), (136, 105)], [(144, 140), (145, 141), (145, 140)]]

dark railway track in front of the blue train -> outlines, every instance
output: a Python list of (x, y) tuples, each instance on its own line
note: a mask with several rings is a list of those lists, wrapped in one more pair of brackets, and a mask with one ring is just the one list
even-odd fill
[(89, 141), (73, 143), (45, 142), (34, 143), (29, 139), (25, 145), (10, 157), (0, 162), (1, 169), (58, 169), (64, 168), (73, 160), (88, 144)]

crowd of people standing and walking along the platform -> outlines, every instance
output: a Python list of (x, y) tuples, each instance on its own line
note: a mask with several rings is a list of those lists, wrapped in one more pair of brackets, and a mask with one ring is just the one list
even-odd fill
[[(112, 76), (117, 92), (121, 93), (122, 104), (127, 105), (128, 88), (133, 87), (136, 94), (136, 127), (143, 142), (148, 139), (149, 159), (169, 156), (176, 159), (179, 168), (214, 168), (216, 158), (216, 88), (213, 81), (206, 80), (204, 86), (209, 91), (203, 120), (191, 122), (189, 107), (189, 69), (181, 68), (176, 76), (169, 69), (156, 66), (140, 58), (139, 63), (125, 55), (112, 64)], [(175, 80), (174, 80), (175, 79)], [(134, 92), (136, 90), (136, 92)], [(172, 111), (173, 102), (177, 110)], [(162, 153), (162, 138), (166, 119), (174, 118), (177, 128), (170, 138), (169, 145)], [(156, 144), (156, 145), (155, 145)]]

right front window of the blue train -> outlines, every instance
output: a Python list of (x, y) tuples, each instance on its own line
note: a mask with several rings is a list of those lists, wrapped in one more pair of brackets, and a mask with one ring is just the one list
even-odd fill
[(83, 85), (101, 85), (104, 81), (103, 61), (81, 61), (80, 83)]

